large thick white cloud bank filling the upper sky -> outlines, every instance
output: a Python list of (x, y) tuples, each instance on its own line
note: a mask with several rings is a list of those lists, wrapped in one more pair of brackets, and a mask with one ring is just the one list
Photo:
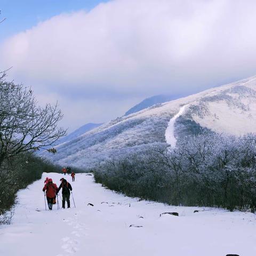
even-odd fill
[(0, 68), (47, 91), (204, 89), (256, 73), (255, 12), (254, 0), (114, 0), (7, 39)]

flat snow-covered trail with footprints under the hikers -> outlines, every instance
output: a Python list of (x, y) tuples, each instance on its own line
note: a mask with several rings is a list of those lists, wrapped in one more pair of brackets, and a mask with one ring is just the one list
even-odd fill
[[(46, 175), (59, 185), (61, 174), (44, 173), (19, 191), (13, 224), (0, 227), (1, 256), (256, 255), (255, 214), (138, 202), (102, 188), (86, 174), (70, 182), (76, 209), (71, 201), (71, 209), (55, 205), (45, 211)], [(179, 217), (160, 217), (163, 212), (178, 212)]]

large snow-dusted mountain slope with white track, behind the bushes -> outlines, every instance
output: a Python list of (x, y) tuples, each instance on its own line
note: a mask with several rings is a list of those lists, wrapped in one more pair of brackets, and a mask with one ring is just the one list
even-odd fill
[[(184, 105), (170, 130), (171, 118)], [(201, 127), (234, 135), (256, 132), (256, 76), (119, 117), (62, 143), (57, 154), (44, 155), (61, 165), (92, 167), (145, 145), (166, 143), (167, 126), (175, 139), (196, 134)]]

